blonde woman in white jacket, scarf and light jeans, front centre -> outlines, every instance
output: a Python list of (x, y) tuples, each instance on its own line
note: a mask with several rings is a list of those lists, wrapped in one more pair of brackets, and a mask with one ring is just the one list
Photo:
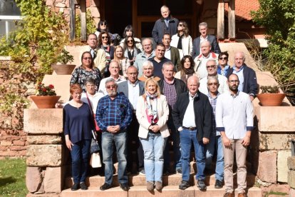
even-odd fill
[(169, 108), (166, 97), (160, 94), (155, 79), (145, 81), (145, 94), (138, 98), (136, 118), (140, 128), (138, 136), (145, 155), (145, 177), (148, 191), (162, 190), (163, 152), (167, 137), (170, 136), (167, 120)]

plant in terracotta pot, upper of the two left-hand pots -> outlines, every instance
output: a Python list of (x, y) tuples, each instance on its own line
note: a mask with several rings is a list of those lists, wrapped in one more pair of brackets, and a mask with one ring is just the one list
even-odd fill
[[(66, 51), (66, 49), (61, 50), (61, 54), (59, 54), (56, 61), (58, 61), (60, 64), (51, 65), (56, 74), (72, 74), (73, 69), (76, 67), (76, 65), (71, 64), (73, 61), (73, 56), (68, 51)], [(70, 64), (68, 64), (68, 62)]]

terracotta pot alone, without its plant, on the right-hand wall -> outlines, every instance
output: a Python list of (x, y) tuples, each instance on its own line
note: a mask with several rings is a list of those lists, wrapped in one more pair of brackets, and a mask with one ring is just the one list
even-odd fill
[(286, 94), (257, 94), (262, 106), (281, 106)]

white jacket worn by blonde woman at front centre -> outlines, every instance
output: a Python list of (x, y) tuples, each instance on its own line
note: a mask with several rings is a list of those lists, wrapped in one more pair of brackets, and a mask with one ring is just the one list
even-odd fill
[[(150, 126), (147, 113), (145, 112), (145, 105), (146, 103), (143, 96), (140, 96), (140, 98), (138, 98), (138, 104), (136, 107), (136, 118), (138, 118), (138, 123), (140, 124), (138, 137), (140, 138), (148, 138), (148, 128)], [(169, 129), (166, 124), (168, 121), (168, 115), (169, 108), (166, 97), (164, 95), (161, 95), (160, 98), (157, 98), (157, 116), (159, 119), (157, 121), (157, 125), (160, 128), (160, 132), (163, 138), (167, 138), (167, 136), (170, 136)]]

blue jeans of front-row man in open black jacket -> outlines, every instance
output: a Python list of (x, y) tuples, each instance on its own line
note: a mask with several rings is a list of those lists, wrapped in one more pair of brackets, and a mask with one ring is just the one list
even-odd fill
[(190, 180), (190, 148), (192, 143), (195, 147), (195, 157), (197, 162), (197, 180), (204, 180), (205, 170), (205, 146), (202, 141), (197, 141), (197, 130), (190, 131), (183, 129), (180, 131), (181, 157), (182, 157), (182, 180)]

